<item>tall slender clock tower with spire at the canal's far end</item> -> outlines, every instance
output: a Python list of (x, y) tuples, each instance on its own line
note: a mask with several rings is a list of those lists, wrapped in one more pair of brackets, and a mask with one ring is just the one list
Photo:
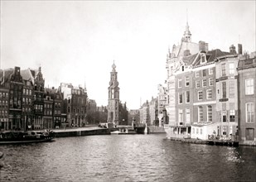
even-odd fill
[(109, 105), (108, 105), (108, 122), (118, 125), (119, 121), (119, 88), (118, 72), (115, 70), (116, 65), (112, 65), (109, 82)]

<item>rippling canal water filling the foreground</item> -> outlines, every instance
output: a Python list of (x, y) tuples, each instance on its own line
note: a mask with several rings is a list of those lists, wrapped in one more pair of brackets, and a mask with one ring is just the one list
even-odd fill
[(187, 144), (165, 136), (80, 136), (0, 146), (0, 181), (255, 181), (256, 147)]

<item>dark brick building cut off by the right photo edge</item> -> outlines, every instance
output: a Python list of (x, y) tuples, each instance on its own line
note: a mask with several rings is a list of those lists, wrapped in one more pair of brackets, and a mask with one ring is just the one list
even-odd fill
[(256, 58), (239, 60), (239, 143), (256, 145)]

